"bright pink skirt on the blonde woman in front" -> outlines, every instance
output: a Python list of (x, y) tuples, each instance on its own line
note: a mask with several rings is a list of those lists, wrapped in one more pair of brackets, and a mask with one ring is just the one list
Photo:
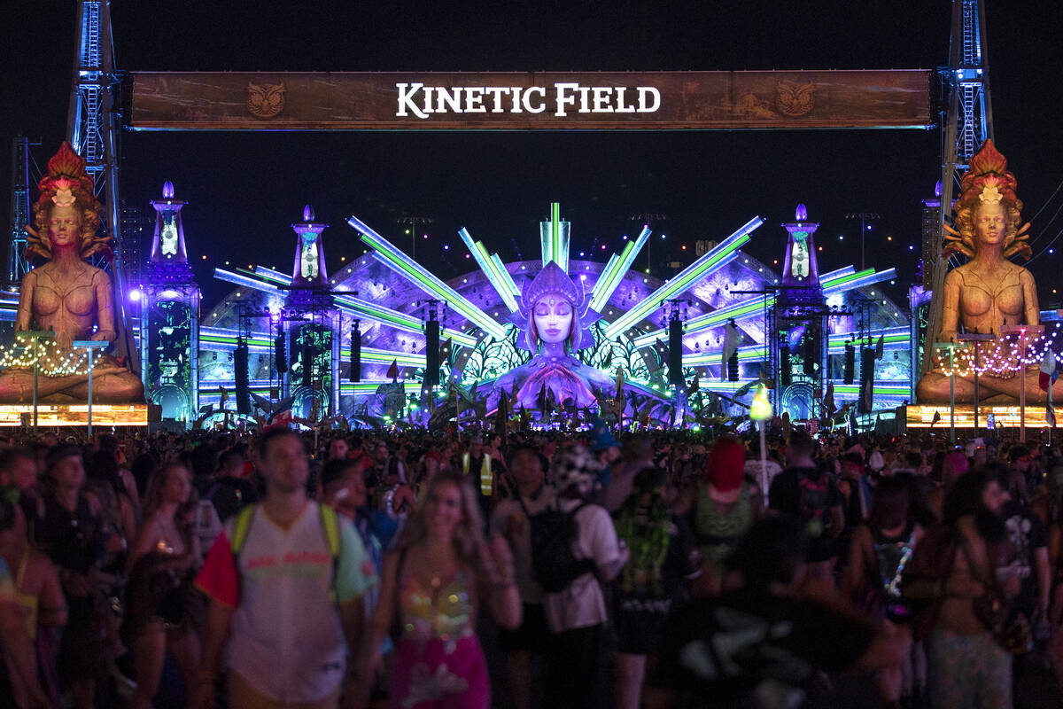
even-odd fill
[(479, 641), (403, 637), (388, 697), (394, 709), (488, 709), (491, 683)]

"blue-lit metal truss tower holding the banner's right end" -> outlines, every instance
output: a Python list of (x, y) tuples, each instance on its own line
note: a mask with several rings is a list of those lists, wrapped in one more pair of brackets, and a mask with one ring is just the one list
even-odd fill
[[(984, 0), (952, 0), (952, 34), (948, 66), (940, 70), (942, 91), (948, 90), (948, 109), (943, 114), (941, 165), (941, 222), (933, 236), (928, 336), (941, 328), (948, 264), (942, 258), (944, 224), (949, 219), (952, 199), (971, 157), (986, 138), (993, 137), (993, 106), (990, 102), (990, 63), (985, 38)], [(925, 348), (923, 371), (930, 366), (933, 348)]]

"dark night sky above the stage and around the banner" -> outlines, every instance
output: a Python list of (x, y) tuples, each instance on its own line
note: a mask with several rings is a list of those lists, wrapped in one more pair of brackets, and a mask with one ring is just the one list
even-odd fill
[[(0, 138), (40, 140), (44, 166), (65, 137), (74, 51), (73, 2), (22, 3), (0, 14), (9, 47)], [(986, 2), (998, 148), (1033, 219), (1034, 252), (1063, 227), (1061, 101), (1063, 12), (1056, 2)], [(114, 0), (119, 68), (135, 70), (480, 71), (932, 69), (947, 61), (950, 3), (917, 2), (215, 2)], [(1053, 82), (1054, 84), (1054, 82)], [(315, 206), (330, 268), (361, 252), (344, 223), (357, 214), (406, 247), (395, 220), (435, 219), (420, 259), (449, 277), (463, 270), (455, 232), (466, 225), (503, 259), (538, 254), (551, 201), (572, 222), (575, 251), (637, 232), (630, 217), (659, 213), (675, 249), (719, 239), (754, 215), (766, 223), (747, 251), (771, 263), (779, 222), (797, 202), (822, 222), (821, 268), (859, 261), (847, 212), (883, 215), (867, 260), (914, 271), (919, 200), (940, 171), (939, 131), (685, 133), (124, 133), (123, 198), (147, 204), (164, 180), (189, 201), (185, 230), (207, 306), (227, 286), (216, 265), (290, 268), (288, 224)], [(3, 163), (10, 165), (10, 157)], [(10, 189), (6, 170), (0, 175)], [(846, 235), (844, 241), (838, 235)], [(888, 242), (885, 235), (892, 235)], [(441, 260), (450, 243), (453, 267)], [(916, 244), (915, 252), (907, 250)], [(655, 242), (655, 250), (659, 242)], [(1063, 241), (1058, 246), (1063, 247)], [(608, 252), (606, 252), (608, 253)], [(689, 253), (689, 252), (688, 252)], [(206, 260), (200, 256), (207, 255)], [(1035, 259), (1042, 301), (1063, 253)], [(655, 258), (656, 260), (656, 258)], [(454, 268), (458, 267), (458, 268)]]

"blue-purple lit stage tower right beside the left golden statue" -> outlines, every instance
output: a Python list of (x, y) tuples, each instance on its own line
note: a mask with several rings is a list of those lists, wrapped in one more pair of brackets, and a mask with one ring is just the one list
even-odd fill
[[(145, 395), (162, 417), (191, 421), (199, 410), (200, 290), (188, 265), (181, 209), (173, 183), (152, 200), (155, 232), (145, 283), (131, 296), (140, 302), (140, 361)], [(195, 385), (195, 386), (193, 386)]]

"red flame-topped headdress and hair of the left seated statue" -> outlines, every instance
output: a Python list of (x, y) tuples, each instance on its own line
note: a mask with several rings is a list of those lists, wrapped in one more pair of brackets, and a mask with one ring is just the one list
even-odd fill
[(103, 252), (109, 256), (111, 237), (97, 236), (103, 205), (96, 199), (92, 178), (85, 170), (85, 161), (64, 141), (50, 161), (48, 172), (37, 183), (40, 197), (33, 205), (33, 224), (27, 225), (27, 256), (52, 257), (48, 240), (48, 221), (53, 207), (72, 206), (81, 213), (81, 257)]

